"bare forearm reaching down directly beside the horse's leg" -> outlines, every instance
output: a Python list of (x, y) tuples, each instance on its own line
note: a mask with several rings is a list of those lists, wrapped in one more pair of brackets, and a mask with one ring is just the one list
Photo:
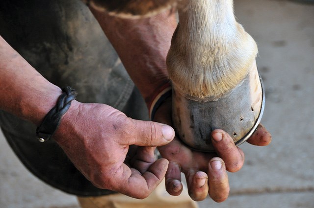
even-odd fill
[(93, 10), (111, 44), (146, 103), (169, 81), (166, 70), (172, 34), (177, 26), (173, 12), (151, 18), (120, 19)]

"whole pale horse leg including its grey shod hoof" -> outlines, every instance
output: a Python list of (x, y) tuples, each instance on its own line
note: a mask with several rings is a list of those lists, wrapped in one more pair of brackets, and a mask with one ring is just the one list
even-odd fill
[(190, 147), (213, 151), (220, 128), (242, 143), (262, 116), (257, 46), (235, 21), (233, 0), (184, 0), (167, 56), (173, 122)]

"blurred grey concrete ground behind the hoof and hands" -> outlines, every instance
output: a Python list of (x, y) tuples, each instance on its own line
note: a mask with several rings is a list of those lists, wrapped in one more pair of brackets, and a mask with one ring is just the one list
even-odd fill
[[(201, 208), (314, 208), (314, 5), (235, 0), (238, 22), (257, 41), (266, 90), (267, 147), (242, 144), (244, 167), (230, 173), (230, 197)], [(78, 208), (34, 178), (0, 136), (0, 208)]]

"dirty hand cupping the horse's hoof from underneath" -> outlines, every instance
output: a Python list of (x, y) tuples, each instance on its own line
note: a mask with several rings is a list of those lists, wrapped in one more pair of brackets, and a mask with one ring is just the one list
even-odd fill
[[(171, 99), (158, 108), (155, 120), (171, 125)], [(228, 198), (229, 182), (226, 171), (236, 172), (244, 163), (243, 151), (235, 146), (233, 139), (223, 130), (212, 132), (212, 144), (216, 153), (193, 151), (177, 137), (169, 144), (158, 147), (162, 157), (168, 159), (169, 167), (165, 176), (169, 194), (177, 196), (182, 192), (181, 172), (184, 173), (188, 193), (195, 201), (209, 196), (216, 202)], [(270, 143), (271, 135), (262, 125), (247, 140), (249, 143), (264, 146)]]

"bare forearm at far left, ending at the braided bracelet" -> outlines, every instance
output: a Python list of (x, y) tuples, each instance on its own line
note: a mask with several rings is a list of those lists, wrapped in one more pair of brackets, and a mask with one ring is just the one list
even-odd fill
[(0, 109), (38, 125), (61, 93), (0, 36)]

